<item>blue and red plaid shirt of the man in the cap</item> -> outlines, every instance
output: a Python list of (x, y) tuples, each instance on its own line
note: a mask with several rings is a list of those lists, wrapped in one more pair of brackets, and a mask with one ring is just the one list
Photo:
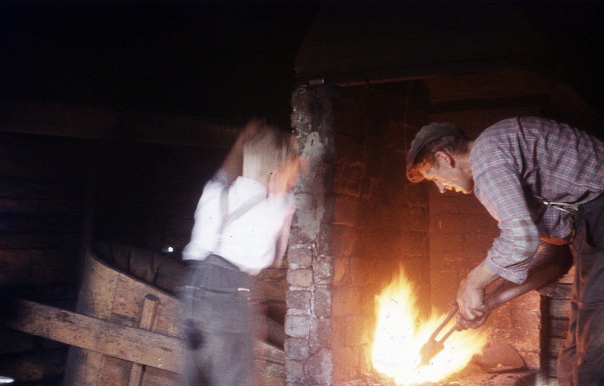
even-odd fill
[(515, 283), (544, 256), (541, 236), (564, 238), (572, 216), (538, 201), (585, 204), (604, 191), (602, 141), (566, 124), (535, 117), (488, 127), (470, 152), (474, 192), (499, 222), (486, 264)]

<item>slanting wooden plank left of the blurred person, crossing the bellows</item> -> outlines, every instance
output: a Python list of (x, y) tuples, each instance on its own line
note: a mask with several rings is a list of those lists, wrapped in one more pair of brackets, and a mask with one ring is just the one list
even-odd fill
[(111, 323), (29, 300), (19, 300), (8, 327), (94, 352), (178, 372), (181, 339)]

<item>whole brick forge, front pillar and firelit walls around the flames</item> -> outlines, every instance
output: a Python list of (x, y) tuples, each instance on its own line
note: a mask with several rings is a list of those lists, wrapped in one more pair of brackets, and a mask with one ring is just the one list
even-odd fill
[[(409, 82), (322, 85), (292, 95), (292, 127), (309, 173), (296, 187), (288, 252), (286, 386), (363, 379), (371, 371), (374, 296), (393, 275), (402, 268), (416, 285), (421, 316), (431, 306), (446, 313), (459, 280), (498, 234), (474, 197), (440, 195), (406, 180), (405, 148), (417, 130), (451, 118), (428, 114), (421, 87), (410, 89)], [(512, 344), (529, 369), (549, 367), (551, 377), (556, 353), (540, 336), (551, 324), (541, 321), (543, 305), (532, 292), (500, 307), (487, 324), (490, 341)]]

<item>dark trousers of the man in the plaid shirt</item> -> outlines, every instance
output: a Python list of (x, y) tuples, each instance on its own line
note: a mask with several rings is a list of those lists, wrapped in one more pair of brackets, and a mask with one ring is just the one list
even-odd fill
[(604, 196), (582, 208), (571, 244), (576, 276), (559, 386), (604, 386)]

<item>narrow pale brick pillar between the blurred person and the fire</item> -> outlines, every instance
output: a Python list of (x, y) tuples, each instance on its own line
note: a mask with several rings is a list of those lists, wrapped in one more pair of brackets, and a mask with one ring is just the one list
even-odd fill
[(292, 127), (309, 173), (298, 179), (298, 210), (289, 242), (285, 319), (286, 385), (329, 385), (333, 255), (334, 90), (300, 87), (292, 95)]

